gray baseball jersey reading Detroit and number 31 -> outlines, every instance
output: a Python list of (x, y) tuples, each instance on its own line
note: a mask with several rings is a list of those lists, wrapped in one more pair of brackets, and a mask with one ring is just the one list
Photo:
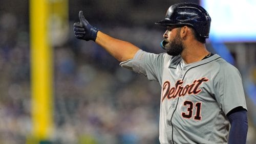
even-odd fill
[(120, 65), (160, 83), (160, 143), (227, 143), (226, 114), (247, 109), (238, 69), (217, 54), (185, 64), (180, 56), (139, 50)]

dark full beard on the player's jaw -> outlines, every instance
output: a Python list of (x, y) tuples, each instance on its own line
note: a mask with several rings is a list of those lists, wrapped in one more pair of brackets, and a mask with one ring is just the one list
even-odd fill
[(175, 39), (168, 42), (167, 39), (164, 40), (164, 48), (166, 50), (166, 53), (171, 56), (178, 56), (181, 54), (181, 52), (184, 50), (183, 43), (181, 41), (180, 35), (176, 35)]

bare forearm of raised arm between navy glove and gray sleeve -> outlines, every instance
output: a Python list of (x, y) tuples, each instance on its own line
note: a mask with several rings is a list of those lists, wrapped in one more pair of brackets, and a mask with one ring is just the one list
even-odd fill
[(139, 50), (139, 47), (130, 42), (113, 38), (100, 31), (97, 33), (95, 42), (120, 62), (132, 59)]

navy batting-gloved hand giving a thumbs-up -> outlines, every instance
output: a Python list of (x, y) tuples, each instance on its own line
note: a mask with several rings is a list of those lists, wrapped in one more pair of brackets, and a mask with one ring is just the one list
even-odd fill
[(99, 29), (92, 27), (90, 23), (84, 18), (82, 11), (79, 11), (80, 22), (74, 23), (75, 36), (78, 39), (83, 39), (86, 41), (96, 40), (97, 33)]

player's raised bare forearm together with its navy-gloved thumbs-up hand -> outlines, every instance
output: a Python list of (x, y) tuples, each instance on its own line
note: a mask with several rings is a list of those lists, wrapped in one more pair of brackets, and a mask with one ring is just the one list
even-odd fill
[(84, 18), (82, 11), (79, 12), (79, 19), (80, 22), (74, 23), (75, 36), (78, 39), (95, 41), (118, 61), (132, 59), (139, 50), (139, 47), (130, 42), (113, 38), (102, 33), (96, 27), (92, 27), (86, 18)]

